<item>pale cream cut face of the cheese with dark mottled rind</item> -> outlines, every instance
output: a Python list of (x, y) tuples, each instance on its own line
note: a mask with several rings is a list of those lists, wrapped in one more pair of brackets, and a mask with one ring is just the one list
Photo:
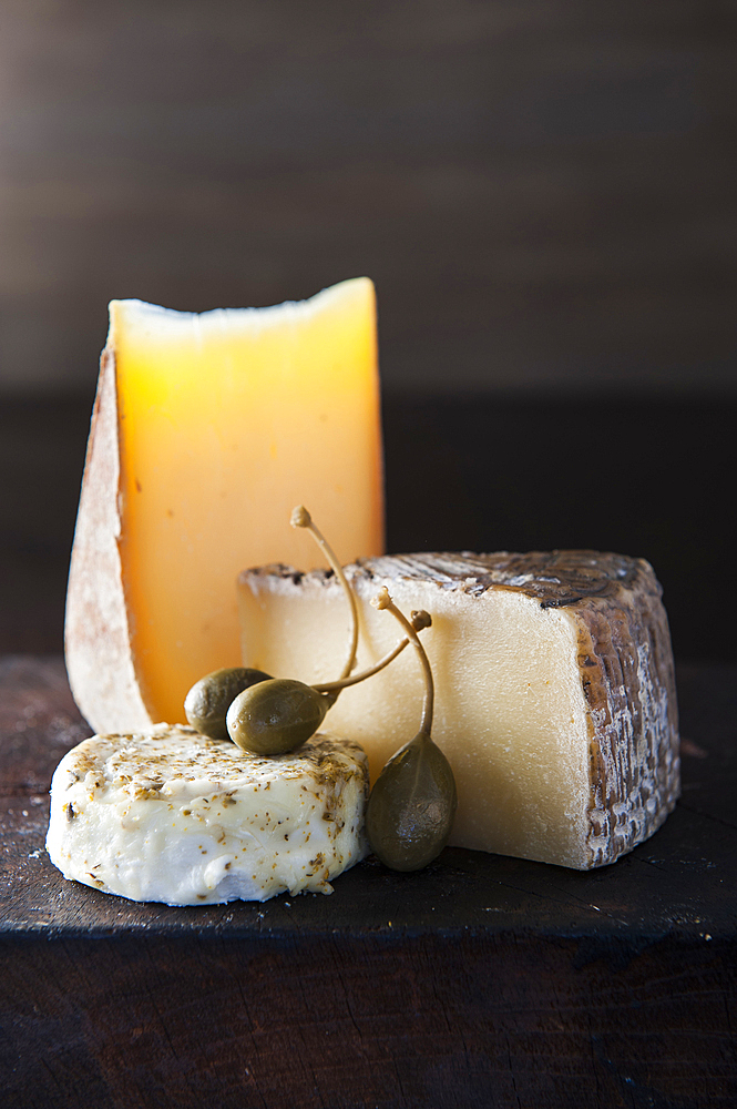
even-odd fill
[[(385, 582), (356, 583), (362, 669), (401, 632), (369, 604)], [(458, 785), (451, 844), (585, 868), (590, 735), (572, 618), (511, 590), (472, 596), (401, 578), (386, 584), (405, 612), (432, 615), (421, 638), (436, 682), (432, 734)], [(247, 665), (305, 682), (338, 675), (348, 618), (337, 587), (252, 573), (239, 598)], [(380, 674), (345, 690), (328, 713), (326, 726), (367, 751), (372, 781), (416, 734), (422, 689), (407, 648)]]

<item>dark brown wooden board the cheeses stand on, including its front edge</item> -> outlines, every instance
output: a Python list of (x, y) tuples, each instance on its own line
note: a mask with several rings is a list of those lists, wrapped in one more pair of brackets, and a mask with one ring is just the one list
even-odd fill
[(3, 1105), (734, 1106), (736, 679), (680, 668), (683, 798), (613, 867), (455, 848), (188, 909), (50, 864), (50, 775), (88, 732), (59, 658), (4, 658)]

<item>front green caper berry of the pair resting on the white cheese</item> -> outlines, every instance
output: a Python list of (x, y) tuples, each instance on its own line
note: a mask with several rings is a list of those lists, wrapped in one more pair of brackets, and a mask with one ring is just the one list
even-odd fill
[(244, 751), (286, 754), (315, 734), (334, 701), (304, 682), (272, 678), (238, 694), (227, 712), (228, 734)]

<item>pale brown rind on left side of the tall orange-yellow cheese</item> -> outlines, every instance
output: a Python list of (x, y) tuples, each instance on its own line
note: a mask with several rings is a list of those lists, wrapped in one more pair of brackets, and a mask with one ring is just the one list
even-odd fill
[(100, 359), (66, 590), (64, 653), (72, 694), (96, 732), (154, 723), (131, 651), (121, 562), (121, 464), (115, 354)]

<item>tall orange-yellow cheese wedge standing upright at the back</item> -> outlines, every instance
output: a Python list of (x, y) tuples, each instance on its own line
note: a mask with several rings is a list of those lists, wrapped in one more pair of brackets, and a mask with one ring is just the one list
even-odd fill
[(381, 551), (379, 419), (366, 277), (273, 308), (112, 302), (65, 627), (95, 731), (183, 721), (191, 685), (237, 665), (237, 573), (304, 557), (295, 505), (342, 558)]

